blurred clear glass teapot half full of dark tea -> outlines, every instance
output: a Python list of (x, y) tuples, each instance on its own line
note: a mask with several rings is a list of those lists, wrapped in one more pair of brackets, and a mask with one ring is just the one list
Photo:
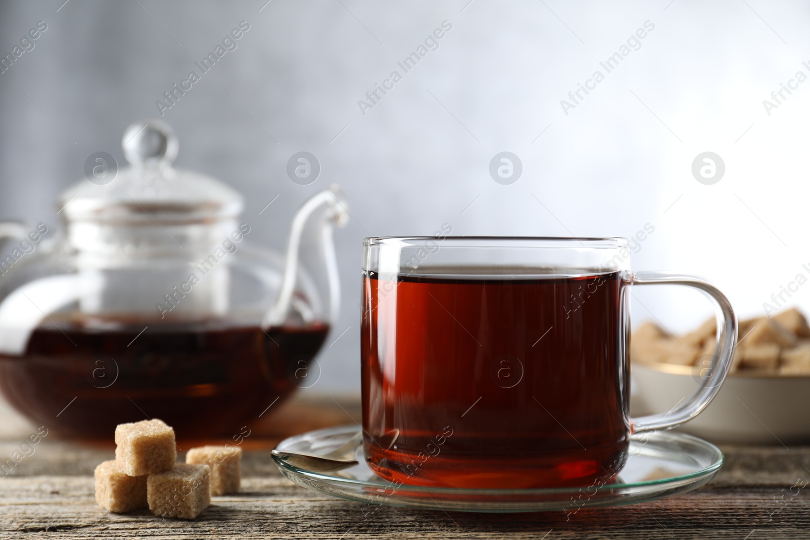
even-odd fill
[[(103, 160), (62, 193), (64, 231), (0, 223), (0, 389), (37, 425), (109, 440), (160, 418), (178, 436), (236, 436), (296, 387), (339, 304), (336, 185), (292, 219), (287, 253), (251, 246), (258, 227), (220, 181), (172, 167), (162, 121), (122, 138), (130, 167)], [(263, 211), (263, 210), (262, 210)], [(261, 213), (261, 212), (260, 212)]]

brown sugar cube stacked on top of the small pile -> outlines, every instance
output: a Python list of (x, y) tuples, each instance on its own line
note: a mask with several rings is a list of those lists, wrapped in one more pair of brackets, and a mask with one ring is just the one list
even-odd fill
[(118, 424), (115, 444), (115, 460), (130, 476), (170, 470), (177, 459), (174, 430), (159, 419)]

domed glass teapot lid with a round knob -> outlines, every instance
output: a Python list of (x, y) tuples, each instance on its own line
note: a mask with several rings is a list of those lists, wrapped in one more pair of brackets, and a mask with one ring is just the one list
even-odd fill
[(130, 166), (117, 170), (113, 157), (102, 153), (88, 159), (87, 180), (62, 193), (59, 212), (67, 222), (111, 224), (210, 223), (239, 215), (244, 201), (237, 190), (172, 167), (177, 147), (177, 136), (164, 121), (130, 124), (122, 138)]

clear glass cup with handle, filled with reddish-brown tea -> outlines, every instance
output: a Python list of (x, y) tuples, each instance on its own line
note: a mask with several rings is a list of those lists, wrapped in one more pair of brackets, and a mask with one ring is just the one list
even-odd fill
[[(714, 300), (717, 347), (692, 398), (631, 419), (630, 288), (664, 284)], [(693, 276), (632, 273), (624, 238), (366, 238), (366, 461), (394, 485), (610, 481), (631, 434), (676, 427), (706, 408), (736, 334), (722, 292)]]

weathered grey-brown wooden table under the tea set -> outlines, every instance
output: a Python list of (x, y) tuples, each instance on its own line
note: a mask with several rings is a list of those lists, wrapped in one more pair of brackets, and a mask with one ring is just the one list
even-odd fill
[[(245, 440), (242, 492), (194, 521), (96, 505), (93, 469), (113, 447), (46, 436), (0, 478), (0, 538), (810, 538), (810, 447), (726, 446), (717, 478), (688, 494), (619, 508), (521, 514), (445, 513), (339, 500), (288, 482), (271, 461), (280, 437), (360, 419), (352, 398), (296, 398)], [(33, 430), (33, 431), (31, 431)], [(0, 458), (35, 432), (0, 406)], [(2, 474), (0, 474), (2, 476)], [(798, 486), (797, 486), (798, 483)]]

